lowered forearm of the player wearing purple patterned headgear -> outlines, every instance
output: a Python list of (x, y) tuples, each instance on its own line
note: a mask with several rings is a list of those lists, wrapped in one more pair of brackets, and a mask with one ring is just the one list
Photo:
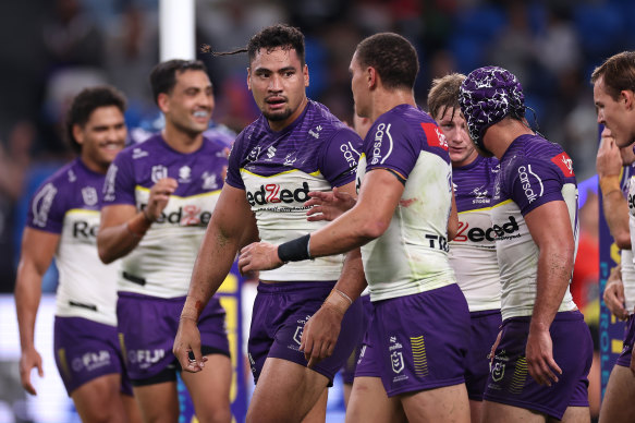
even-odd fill
[(548, 330), (560, 309), (573, 271), (573, 244), (552, 243), (540, 249), (532, 330)]

